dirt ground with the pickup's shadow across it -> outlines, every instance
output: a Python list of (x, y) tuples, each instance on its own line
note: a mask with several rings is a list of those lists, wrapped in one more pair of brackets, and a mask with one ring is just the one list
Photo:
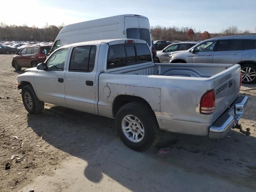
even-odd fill
[[(243, 85), (249, 102), (222, 140), (161, 132), (157, 146), (124, 146), (114, 120), (45, 105), (25, 110), (16, 89), (13, 55), (0, 55), (0, 191), (255, 191), (256, 84)], [(156, 154), (170, 147), (167, 154)], [(11, 160), (11, 158), (13, 158)]]

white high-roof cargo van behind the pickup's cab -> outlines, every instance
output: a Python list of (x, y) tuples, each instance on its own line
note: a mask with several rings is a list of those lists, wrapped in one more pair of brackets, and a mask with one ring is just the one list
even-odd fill
[(125, 14), (64, 26), (56, 37), (51, 52), (77, 42), (126, 38), (145, 40), (152, 50), (148, 18)]

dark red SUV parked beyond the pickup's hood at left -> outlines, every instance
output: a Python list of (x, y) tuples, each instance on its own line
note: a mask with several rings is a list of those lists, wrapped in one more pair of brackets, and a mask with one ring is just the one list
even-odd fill
[(13, 56), (12, 67), (20, 71), (22, 67), (36, 67), (38, 63), (46, 60), (46, 55), (52, 46), (27, 46), (22, 48), (20, 52)]

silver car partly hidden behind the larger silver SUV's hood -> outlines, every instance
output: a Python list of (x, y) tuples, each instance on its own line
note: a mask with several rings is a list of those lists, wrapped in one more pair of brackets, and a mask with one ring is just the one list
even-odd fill
[(191, 47), (198, 44), (198, 42), (180, 42), (173, 43), (161, 51), (156, 52), (156, 62), (157, 63), (169, 63), (170, 62), (170, 54), (172, 52), (184, 51), (188, 50)]

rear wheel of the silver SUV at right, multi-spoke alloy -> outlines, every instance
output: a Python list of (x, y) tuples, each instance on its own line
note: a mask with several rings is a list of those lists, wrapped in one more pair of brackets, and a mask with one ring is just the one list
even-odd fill
[(250, 84), (256, 82), (256, 66), (253, 64), (245, 64), (241, 66), (242, 83)]

